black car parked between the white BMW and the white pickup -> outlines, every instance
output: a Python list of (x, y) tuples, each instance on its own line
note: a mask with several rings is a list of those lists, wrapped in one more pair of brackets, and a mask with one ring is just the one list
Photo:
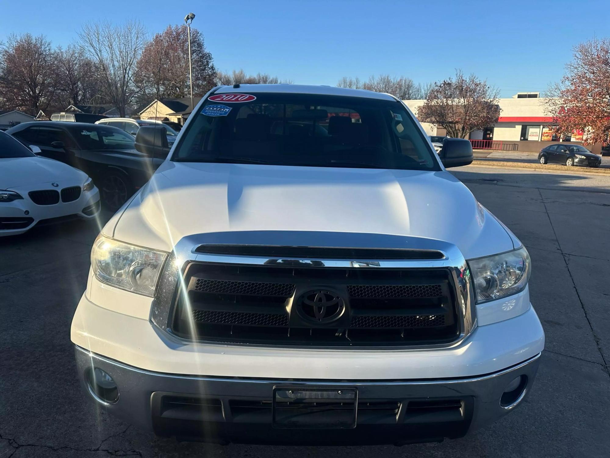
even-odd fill
[[(40, 156), (65, 162), (88, 173), (101, 190), (104, 206), (116, 210), (148, 181), (165, 159), (135, 150), (134, 137), (122, 129), (88, 123), (38, 121), (7, 131)], [(165, 155), (167, 155), (165, 151)]]

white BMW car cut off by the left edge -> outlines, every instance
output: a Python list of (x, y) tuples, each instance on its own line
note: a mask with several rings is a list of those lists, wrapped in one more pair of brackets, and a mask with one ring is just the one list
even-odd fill
[(98, 188), (87, 173), (37, 156), (0, 131), (0, 236), (73, 217), (91, 219), (99, 208)]

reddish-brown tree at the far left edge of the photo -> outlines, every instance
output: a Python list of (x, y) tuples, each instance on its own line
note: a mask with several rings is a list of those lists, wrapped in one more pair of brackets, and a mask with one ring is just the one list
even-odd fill
[(6, 106), (33, 115), (49, 106), (57, 86), (52, 56), (43, 35), (9, 35), (0, 47), (0, 93)]

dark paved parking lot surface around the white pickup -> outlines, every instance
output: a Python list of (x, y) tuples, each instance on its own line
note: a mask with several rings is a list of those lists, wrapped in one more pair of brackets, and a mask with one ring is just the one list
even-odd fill
[(0, 239), (0, 457), (610, 456), (610, 177), (461, 167), (458, 176), (526, 245), (547, 346), (531, 396), (454, 441), (405, 447), (177, 443), (81, 393), (70, 321), (96, 224)]

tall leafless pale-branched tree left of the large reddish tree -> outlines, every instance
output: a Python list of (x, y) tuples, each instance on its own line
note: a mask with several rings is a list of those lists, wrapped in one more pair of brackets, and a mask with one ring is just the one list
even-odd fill
[(91, 21), (82, 26), (78, 35), (82, 51), (96, 64), (96, 76), (107, 98), (124, 116), (137, 93), (134, 75), (145, 45), (144, 27), (135, 20), (120, 25), (107, 20)]

